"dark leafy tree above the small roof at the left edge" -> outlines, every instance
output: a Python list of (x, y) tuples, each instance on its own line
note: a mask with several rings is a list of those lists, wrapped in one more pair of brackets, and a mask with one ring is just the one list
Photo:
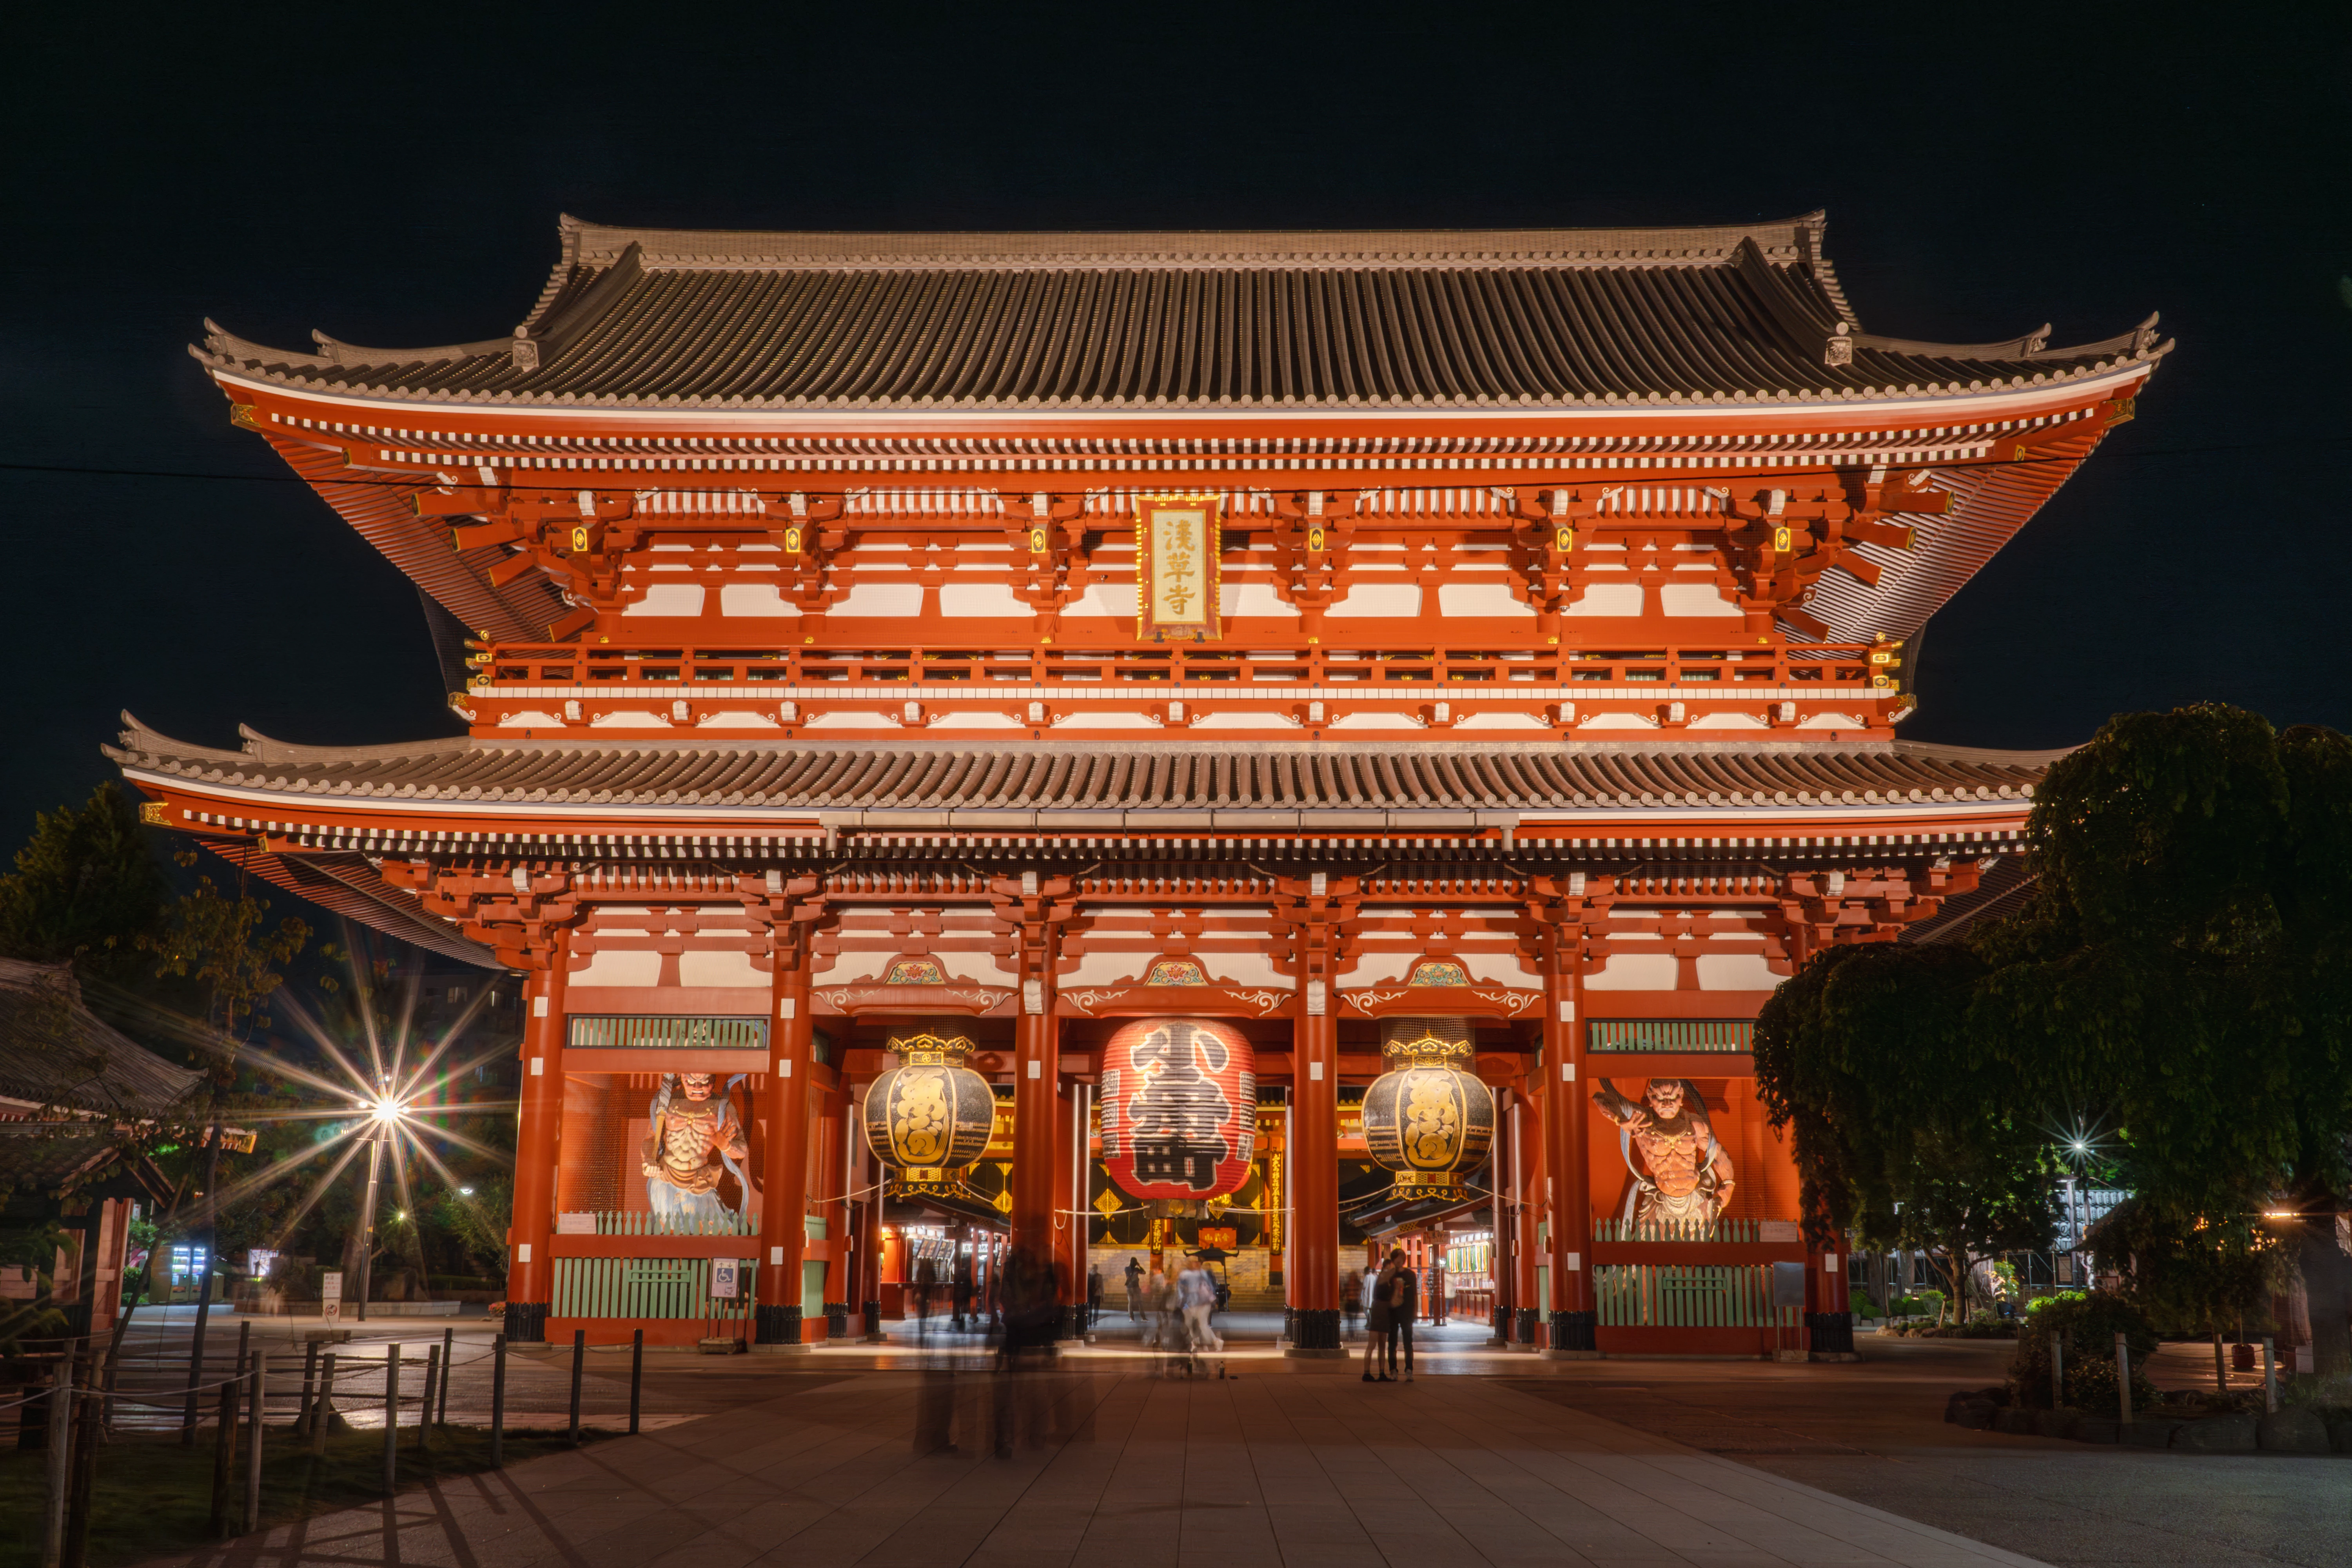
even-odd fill
[(82, 978), (127, 980), (139, 943), (162, 929), (172, 898), (139, 806), (101, 783), (80, 806), (33, 818), (33, 837), (0, 877), (0, 954), (56, 964)]

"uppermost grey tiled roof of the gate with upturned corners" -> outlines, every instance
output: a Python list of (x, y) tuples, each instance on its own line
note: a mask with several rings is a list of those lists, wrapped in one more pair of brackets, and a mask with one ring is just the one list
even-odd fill
[(318, 353), (207, 322), (221, 371), (543, 407), (1573, 407), (2067, 378), (2164, 353), (1865, 334), (1823, 216), (1745, 228), (722, 233), (562, 221), (510, 336)]

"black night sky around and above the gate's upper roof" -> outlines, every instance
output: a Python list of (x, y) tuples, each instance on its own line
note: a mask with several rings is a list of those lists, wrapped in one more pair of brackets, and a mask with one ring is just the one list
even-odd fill
[[(214, 745), (452, 733), (416, 590), (183, 346), (485, 339), (555, 216), (713, 228), (1736, 223), (1872, 331), (2180, 339), (1926, 630), (1905, 733), (2197, 698), (2352, 726), (2352, 7), (28, 7), (7, 40), (0, 846)], [(2352, 287), (2352, 284), (2347, 284)], [(120, 473), (49, 470), (153, 470)], [(238, 480), (245, 475), (247, 480)]]

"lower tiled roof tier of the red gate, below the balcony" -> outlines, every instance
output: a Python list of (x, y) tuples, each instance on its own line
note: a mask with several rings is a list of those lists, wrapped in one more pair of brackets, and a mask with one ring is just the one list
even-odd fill
[[(2063, 752), (1823, 741), (677, 741), (452, 738), (216, 750), (125, 715), (118, 764), (191, 783), (400, 802), (767, 811), (1557, 811), (2023, 799)], [(1042, 823), (1040, 825), (1051, 825)]]

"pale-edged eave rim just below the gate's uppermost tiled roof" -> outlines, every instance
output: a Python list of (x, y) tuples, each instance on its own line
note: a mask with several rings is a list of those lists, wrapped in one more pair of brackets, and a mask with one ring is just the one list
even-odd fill
[[(1359, 407), (1359, 409), (1298, 409), (1284, 404), (1232, 404), (1225, 409), (1030, 409), (1030, 407), (993, 407), (993, 409), (644, 409), (633, 404), (574, 404), (574, 407), (548, 407), (532, 402), (456, 402), (456, 400), (430, 400), (430, 397), (358, 397), (350, 393), (318, 393), (301, 386), (287, 386), (282, 381), (263, 381), (252, 376), (240, 376), (219, 367), (207, 367), (212, 378), (221, 386), (240, 388), (249, 395), (273, 395), (289, 402), (306, 402), (329, 409), (369, 409), (379, 418), (390, 418), (395, 428), (407, 428), (419, 414), (442, 414), (442, 416), (468, 416), (489, 418), (496, 423), (515, 425), (548, 425), (548, 428), (588, 428), (588, 425), (614, 425), (626, 423), (647, 433), (696, 433), (710, 430), (713, 425), (724, 425), (739, 435), (840, 435), (842, 430), (858, 433), (1021, 433), (1063, 425), (1150, 425), (1150, 423), (1251, 423), (1258, 428), (1277, 425), (1362, 425), (1362, 423), (1456, 423), (1463, 428), (1494, 428), (1494, 425), (1576, 425), (1576, 423), (1689, 423), (1693, 418), (1736, 421), (1752, 425), (1766, 421), (1773, 425), (1818, 425), (1839, 418), (1900, 418), (1915, 414), (1938, 414), (1943, 423), (1985, 423), (1994, 418), (2009, 418), (2016, 414), (2037, 414), (2058, 404), (2096, 402), (2098, 397), (2114, 395), (2117, 388), (2145, 381), (2154, 374), (2157, 360), (2143, 360), (2136, 364), (2119, 364), (2107, 371), (2096, 371), (2089, 376), (2070, 376), (2063, 381), (2051, 381), (2046, 386), (2023, 386), (2023, 388), (1987, 388), (1980, 393), (1919, 393), (1905, 397), (1813, 397), (1804, 402), (1689, 402), (1689, 404), (1649, 404), (1649, 402), (1613, 402), (1613, 404), (1559, 404), (1559, 407), (1522, 407), (1522, 404), (1468, 404), (1468, 407)], [(1957, 409), (1969, 409), (1962, 418)], [(1084, 454), (1082, 454), (1084, 456)], [(1188, 456), (1188, 458), (1216, 458), (1230, 456), (1237, 465), (1247, 465), (1249, 456), (1345, 456), (1345, 454), (1152, 454), (1152, 456)], [(1402, 454), (1362, 454), (1362, 456), (1402, 456)], [(1571, 454), (1548, 454), (1548, 456), (1571, 456)], [(1606, 454), (1599, 454), (1606, 456)], [(1635, 456), (1675, 456), (1675, 454), (1635, 454)], [(1138, 458), (1141, 461), (1141, 458)], [(1543, 465), (1543, 463), (1529, 463)]]

